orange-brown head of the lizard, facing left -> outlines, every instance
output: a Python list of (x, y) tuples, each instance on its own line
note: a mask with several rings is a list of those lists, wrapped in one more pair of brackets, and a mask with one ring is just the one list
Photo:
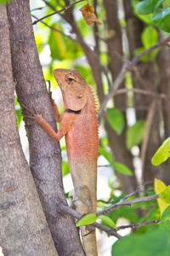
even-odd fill
[(54, 78), (59, 84), (65, 108), (81, 110), (88, 99), (88, 83), (76, 69), (54, 69)]

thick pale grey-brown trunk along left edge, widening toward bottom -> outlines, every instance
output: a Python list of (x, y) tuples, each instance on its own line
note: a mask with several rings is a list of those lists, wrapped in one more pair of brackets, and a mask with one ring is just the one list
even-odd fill
[(0, 246), (4, 255), (58, 255), (20, 145), (6, 7), (0, 7)]

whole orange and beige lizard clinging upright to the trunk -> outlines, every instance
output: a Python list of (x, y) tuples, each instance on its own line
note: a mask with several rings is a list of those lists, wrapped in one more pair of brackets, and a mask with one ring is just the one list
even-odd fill
[[(23, 106), (31, 113), (31, 116), (23, 116), (41, 125), (55, 141), (65, 136), (67, 158), (75, 191), (74, 206), (82, 215), (96, 213), (99, 151), (97, 101), (91, 86), (76, 69), (54, 69), (54, 78), (59, 84), (64, 103), (64, 111), (59, 114), (59, 109), (50, 95), (55, 119), (60, 123), (59, 131), (55, 132), (42, 118), (42, 111), (38, 113), (35, 107), (33, 112)], [(80, 230), (86, 255), (97, 256), (95, 228), (81, 226)]]

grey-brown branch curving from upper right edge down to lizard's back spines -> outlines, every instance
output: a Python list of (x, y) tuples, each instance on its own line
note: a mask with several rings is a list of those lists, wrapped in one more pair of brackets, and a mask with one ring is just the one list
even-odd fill
[(116, 90), (118, 90), (120, 84), (122, 84), (122, 81), (125, 79), (125, 75), (127, 71), (130, 71), (133, 69), (133, 67), (138, 63), (138, 61), (141, 59), (142, 56), (148, 54), (153, 49), (156, 49), (157, 47), (160, 47), (163, 44), (167, 44), (169, 42), (170, 37), (158, 42), (157, 44), (154, 44), (148, 49), (145, 49), (141, 54), (135, 56), (132, 61), (126, 61), (124, 65), (122, 66), (122, 69), (120, 73), (117, 75), (115, 82), (113, 83), (111, 90), (109, 93), (105, 96), (104, 101), (101, 103), (99, 108), (99, 122), (103, 118), (103, 114), (106, 108), (107, 103), (111, 100), (111, 98), (114, 96)]

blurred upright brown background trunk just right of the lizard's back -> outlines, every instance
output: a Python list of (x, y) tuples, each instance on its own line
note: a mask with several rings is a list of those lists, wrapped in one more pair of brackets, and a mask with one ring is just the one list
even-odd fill
[[(116, 79), (116, 76), (122, 68), (122, 29), (117, 17), (117, 1), (104, 0), (104, 6), (106, 11), (106, 20), (108, 26), (108, 34), (113, 34), (112, 37), (107, 39), (108, 42), (108, 55), (110, 56), (109, 69), (111, 71), (112, 80)], [(121, 88), (124, 87), (124, 83), (121, 84)], [(115, 96), (114, 103), (116, 108), (126, 108), (127, 99), (126, 96)], [(123, 113), (126, 120), (126, 114)], [(133, 157), (126, 148), (126, 128), (122, 132), (121, 136), (117, 136), (116, 132), (111, 129), (105, 119), (105, 130), (108, 133), (110, 147), (116, 161), (128, 166), (133, 171)], [(122, 189), (127, 193), (133, 191), (136, 186), (136, 178), (126, 177), (120, 173), (117, 176), (121, 179)]]

